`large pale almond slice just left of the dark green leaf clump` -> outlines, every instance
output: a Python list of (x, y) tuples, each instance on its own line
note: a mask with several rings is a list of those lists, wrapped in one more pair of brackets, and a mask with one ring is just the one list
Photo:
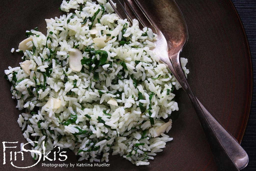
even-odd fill
[(81, 59), (83, 59), (82, 52), (75, 49), (74, 52), (69, 52), (69, 67), (73, 72), (80, 72), (82, 69)]

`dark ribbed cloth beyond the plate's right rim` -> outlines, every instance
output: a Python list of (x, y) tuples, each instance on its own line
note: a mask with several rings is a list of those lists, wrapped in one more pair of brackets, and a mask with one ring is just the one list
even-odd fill
[(251, 49), (253, 65), (253, 98), (246, 133), (241, 143), (249, 155), (249, 164), (243, 170), (256, 170), (256, 1), (232, 0), (242, 20)]

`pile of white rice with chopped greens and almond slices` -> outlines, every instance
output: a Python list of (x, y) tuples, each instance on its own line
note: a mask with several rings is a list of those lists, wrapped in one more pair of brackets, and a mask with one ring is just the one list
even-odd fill
[(180, 88), (152, 51), (157, 36), (119, 19), (106, 0), (63, 1), (60, 9), (75, 12), (46, 19), (46, 36), (27, 31), (16, 50), (23, 62), (5, 70), (26, 111), (18, 118), (24, 137), (46, 154), (59, 146), (79, 161), (108, 162), (112, 153), (148, 165), (173, 139), (163, 133), (172, 121), (160, 117), (178, 110), (172, 91)]

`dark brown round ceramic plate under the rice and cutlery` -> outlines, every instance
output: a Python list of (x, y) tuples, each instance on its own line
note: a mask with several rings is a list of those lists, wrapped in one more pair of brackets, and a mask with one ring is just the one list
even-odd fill
[[(144, 0), (145, 2), (148, 2)], [(144, 3), (145, 3), (144, 2)], [(157, 22), (165, 22), (163, 13), (168, 11), (168, 0), (155, 1), (159, 3), (152, 10)], [(238, 14), (230, 0), (177, 0), (188, 26), (189, 40), (182, 57), (188, 59), (190, 70), (188, 82), (198, 99), (212, 115), (241, 142), (247, 125), (252, 98), (252, 64), (246, 35)], [(143, 2), (142, 2), (143, 3)], [(6, 163), (3, 160), (3, 145), (0, 152), (1, 170), (15, 170), (10, 162), (19, 167), (35, 164), (35, 161), (24, 152), (24, 160), (14, 152), (19, 151), (20, 143), (26, 143), (17, 123), (21, 113), (15, 108), (17, 101), (10, 93), (10, 84), (4, 80), (4, 70), (8, 66), (18, 66), (20, 55), (12, 54), (10, 50), (17, 49), (26, 30), (38, 26), (39, 31), (46, 33), (44, 19), (60, 16), (58, 1), (3, 1), (1, 2), (1, 142), (7, 148)], [(153, 12), (157, 10), (158, 13)], [(168, 34), (168, 33), (167, 33)], [(167, 143), (166, 148), (155, 156), (148, 166), (136, 167), (120, 156), (110, 157), (109, 167), (77, 167), (77, 157), (68, 149), (66, 161), (41, 161), (26, 170), (216, 170), (206, 138), (198, 122), (196, 114), (183, 90), (177, 93), (179, 111), (173, 114), (173, 127), (168, 133), (174, 138)], [(1, 143), (2, 144), (2, 143)], [(13, 158), (10, 161), (10, 152)], [(58, 151), (57, 151), (58, 152)], [(53, 152), (52, 152), (53, 153)], [(50, 155), (53, 159), (54, 155)], [(68, 164), (68, 168), (47, 167), (42, 164)], [(70, 163), (75, 164), (74, 168)], [(19, 169), (17, 169), (19, 170)]]

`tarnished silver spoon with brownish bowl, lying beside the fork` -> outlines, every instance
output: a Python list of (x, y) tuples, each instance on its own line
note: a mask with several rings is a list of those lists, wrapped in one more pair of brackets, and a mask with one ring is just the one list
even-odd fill
[(185, 19), (175, 3), (172, 1), (173, 15), (170, 16), (174, 27), (170, 27), (170, 34), (166, 39), (168, 40), (169, 51), (168, 55), (172, 62), (172, 66), (169, 66), (171, 72), (176, 72), (175, 76), (178, 77), (178, 82), (181, 83), (182, 88), (186, 91), (189, 100), (191, 101), (198, 119), (203, 127), (207, 141), (211, 148), (212, 156), (218, 170), (239, 170), (247, 166), (249, 157), (236, 141), (236, 139), (230, 135), (206, 110), (206, 108), (199, 102), (199, 100), (193, 94), (184, 71), (180, 64), (180, 51), (183, 49), (187, 42), (188, 32)]

